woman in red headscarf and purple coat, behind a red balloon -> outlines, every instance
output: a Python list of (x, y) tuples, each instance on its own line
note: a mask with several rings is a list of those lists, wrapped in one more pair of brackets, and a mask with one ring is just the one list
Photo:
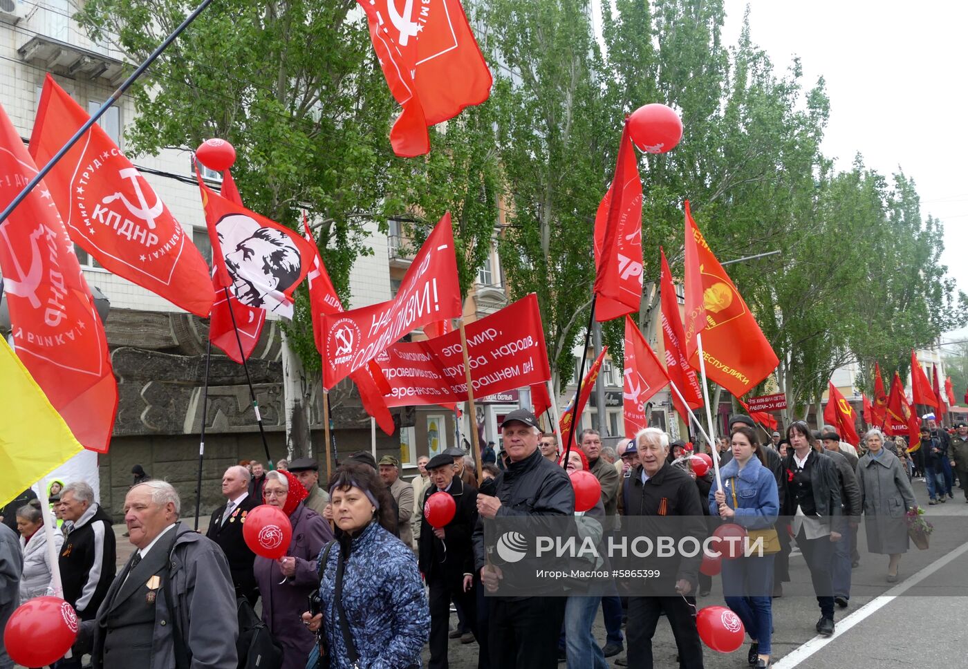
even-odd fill
[(333, 532), (316, 511), (302, 503), (309, 494), (288, 471), (269, 471), (262, 494), (265, 503), (281, 508), (292, 524), (292, 542), (284, 557), (256, 558), (262, 622), (283, 647), (283, 669), (303, 669), (316, 637), (299, 616), (306, 610), (306, 598), (319, 587), (316, 559)]

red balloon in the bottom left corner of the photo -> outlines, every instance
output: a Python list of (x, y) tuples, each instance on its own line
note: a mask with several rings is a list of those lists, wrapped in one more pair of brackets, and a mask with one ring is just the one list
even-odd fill
[(21, 604), (4, 628), (4, 644), (17, 664), (52, 664), (77, 639), (77, 613), (60, 597), (36, 597)]

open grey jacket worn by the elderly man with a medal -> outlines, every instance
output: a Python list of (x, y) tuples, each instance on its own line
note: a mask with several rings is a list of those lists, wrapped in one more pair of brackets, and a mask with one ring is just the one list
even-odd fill
[[(178, 532), (169, 570), (175, 602), (173, 607), (169, 605), (163, 586), (155, 604), (150, 662), (145, 662), (144, 669), (175, 666), (172, 616), (177, 616), (185, 645), (192, 655), (191, 669), (236, 669), (238, 611), (226, 556), (214, 541), (181, 524), (170, 532)], [(81, 623), (75, 653), (91, 653), (93, 669), (110, 669), (102, 658), (105, 629), (100, 622), (106, 619), (126, 573), (127, 569), (122, 569), (111, 583), (97, 619)]]

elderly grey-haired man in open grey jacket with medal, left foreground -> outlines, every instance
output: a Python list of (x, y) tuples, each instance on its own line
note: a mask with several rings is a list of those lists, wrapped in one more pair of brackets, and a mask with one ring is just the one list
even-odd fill
[(97, 619), (81, 623), (75, 653), (90, 653), (94, 669), (235, 669), (238, 619), (222, 549), (178, 523), (181, 501), (165, 481), (136, 485), (124, 507), (137, 550)]

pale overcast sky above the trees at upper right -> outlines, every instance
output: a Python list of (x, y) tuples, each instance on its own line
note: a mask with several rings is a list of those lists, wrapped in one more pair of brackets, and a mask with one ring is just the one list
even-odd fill
[[(726, 44), (750, 34), (778, 72), (800, 56), (805, 87), (827, 81), (824, 153), (856, 153), (917, 183), (922, 216), (945, 224), (944, 261), (968, 292), (968, 3), (961, 0), (725, 0)], [(968, 325), (968, 319), (963, 323)], [(968, 328), (946, 341), (968, 339)]]

